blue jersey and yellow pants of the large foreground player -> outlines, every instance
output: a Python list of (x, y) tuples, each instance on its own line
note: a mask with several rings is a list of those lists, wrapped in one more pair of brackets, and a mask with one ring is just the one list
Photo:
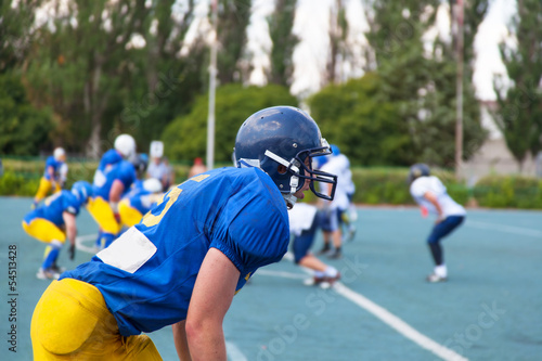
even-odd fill
[[(101, 337), (100, 352), (112, 360), (121, 347), (124, 354), (133, 348), (159, 360), (147, 336), (133, 335), (185, 320), (210, 248), (237, 268), (238, 291), (258, 268), (284, 256), (288, 238), (284, 198), (262, 170), (222, 168), (196, 176), (166, 193), (139, 224), (91, 261), (51, 284), (33, 318), (35, 358), (85, 356), (85, 341)], [(59, 301), (60, 293), (70, 297)], [(49, 322), (57, 313), (70, 317)], [(88, 322), (70, 321), (79, 315)]]

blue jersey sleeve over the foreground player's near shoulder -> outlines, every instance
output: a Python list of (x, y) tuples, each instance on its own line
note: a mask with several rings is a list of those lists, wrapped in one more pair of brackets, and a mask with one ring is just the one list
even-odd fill
[(210, 247), (222, 252), (241, 273), (282, 259), (289, 241), (286, 207), (280, 209), (273, 199), (246, 186), (223, 211), (225, 222)]

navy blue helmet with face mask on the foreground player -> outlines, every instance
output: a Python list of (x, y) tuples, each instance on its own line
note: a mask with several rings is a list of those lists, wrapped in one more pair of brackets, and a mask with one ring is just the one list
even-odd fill
[[(288, 208), (293, 207), (306, 179), (321, 198), (333, 199), (337, 176), (313, 170), (311, 158), (331, 154), (317, 123), (304, 111), (292, 106), (273, 106), (253, 114), (241, 126), (235, 139), (238, 168), (257, 167), (274, 181)], [(305, 164), (309, 157), (308, 166)], [(280, 165), (284, 167), (279, 167)], [(315, 182), (332, 184), (331, 194), (317, 191)]]

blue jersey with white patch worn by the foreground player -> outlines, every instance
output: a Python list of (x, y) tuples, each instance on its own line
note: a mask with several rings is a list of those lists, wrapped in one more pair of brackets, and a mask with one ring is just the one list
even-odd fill
[(61, 279), (98, 287), (120, 334), (185, 320), (209, 248), (240, 271), (236, 291), (262, 266), (281, 260), (289, 230), (284, 198), (257, 168), (222, 168), (171, 189), (139, 224)]

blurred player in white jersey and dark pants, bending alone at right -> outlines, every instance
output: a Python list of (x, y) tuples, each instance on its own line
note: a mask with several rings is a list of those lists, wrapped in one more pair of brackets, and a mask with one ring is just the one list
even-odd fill
[(430, 176), (429, 167), (415, 164), (409, 173), (410, 193), (414, 201), (437, 216), (427, 243), (435, 261), (434, 273), (427, 276), (428, 282), (443, 282), (448, 279), (448, 269), (440, 241), (463, 223), (466, 211), (448, 195), (444, 184), (435, 176)]

